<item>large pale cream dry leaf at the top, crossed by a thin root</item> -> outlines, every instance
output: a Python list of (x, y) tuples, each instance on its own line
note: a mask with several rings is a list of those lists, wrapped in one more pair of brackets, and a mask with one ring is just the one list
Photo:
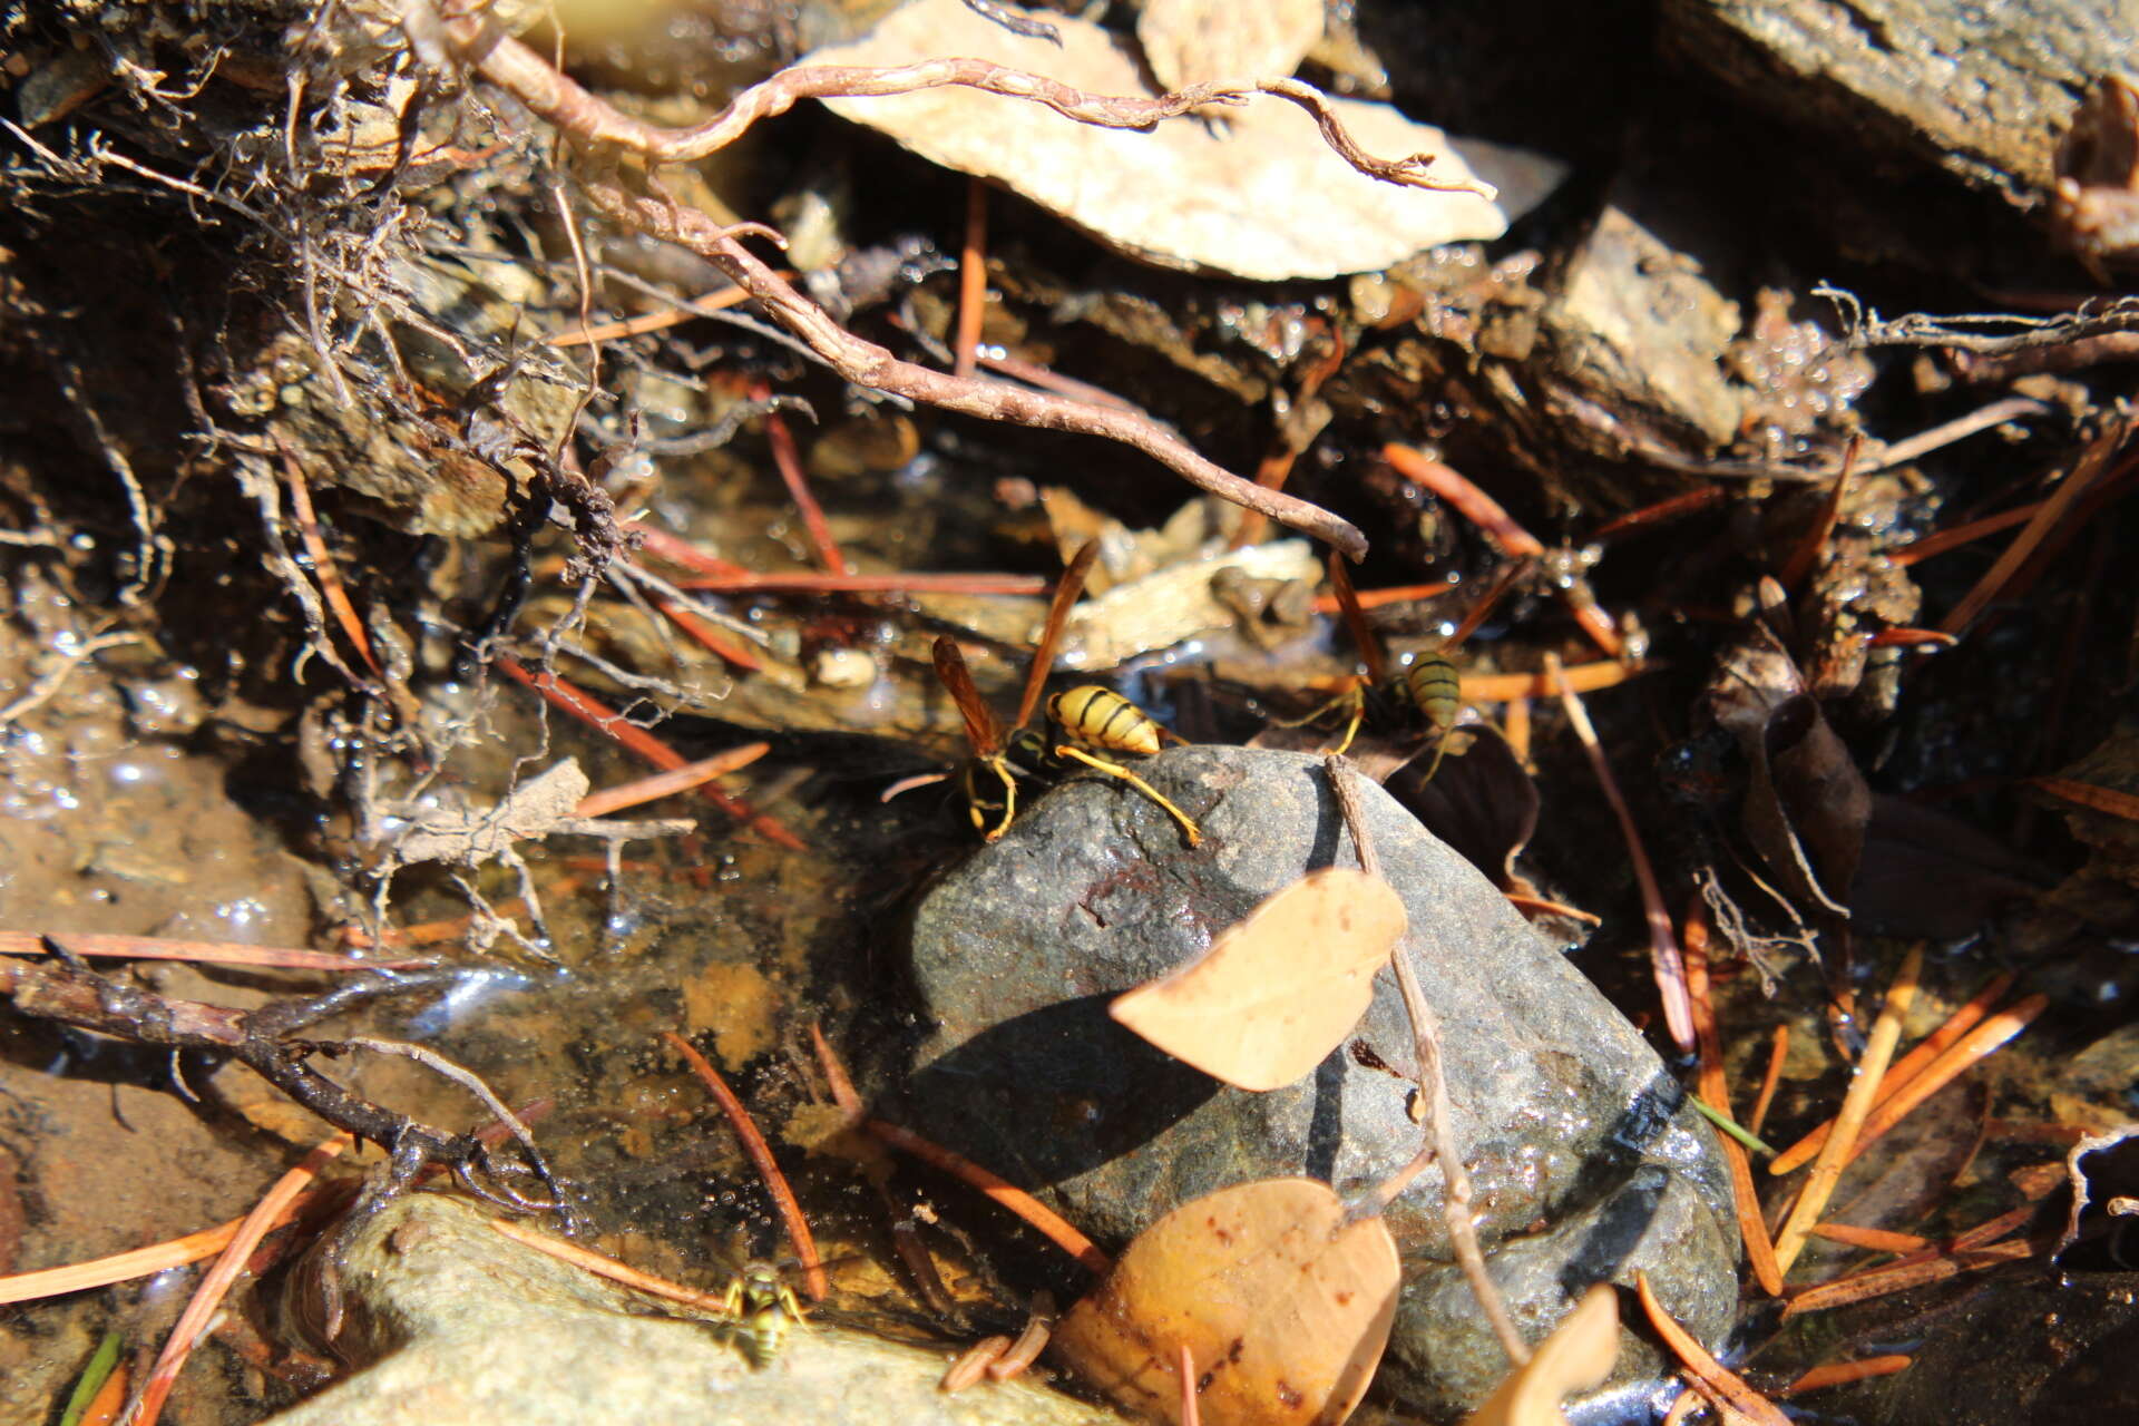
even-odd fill
[[(960, 0), (915, 0), (864, 38), (817, 49), (804, 64), (965, 56), (1091, 94), (1153, 92), (1127, 41), (1078, 19), (1050, 15), (1048, 24), (1061, 32), (1059, 49), (1018, 38)], [(1228, 109), (1224, 130), (1183, 115), (1149, 133), (1093, 128), (965, 88), (824, 103), (945, 169), (1014, 188), (1129, 257), (1262, 282), (1380, 272), (1435, 244), (1499, 237), (1566, 175), (1551, 158), (1448, 139), (1388, 105), (1350, 98), (1330, 103), (1367, 152), (1437, 154), (1433, 177), (1484, 180), (1499, 188), (1497, 205), (1474, 192), (1367, 177), (1322, 141), (1311, 115), (1281, 98)]]

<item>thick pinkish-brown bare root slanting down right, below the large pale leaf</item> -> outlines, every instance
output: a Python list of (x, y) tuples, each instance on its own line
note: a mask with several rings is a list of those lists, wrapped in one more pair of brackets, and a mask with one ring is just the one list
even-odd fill
[(1320, 505), (1243, 481), (1238, 475), (1198, 455), (1151, 417), (1074, 402), (1048, 396), (1046, 391), (1027, 391), (1001, 381), (960, 378), (901, 361), (883, 346), (853, 336), (832, 321), (830, 312), (781, 282), (729, 229), (706, 214), (682, 207), (665, 197), (633, 195), (622, 184), (595, 175), (586, 177), (586, 195), (595, 210), (612, 222), (680, 244), (719, 265), (783, 327), (821, 355), (832, 370), (860, 387), (892, 391), (926, 406), (939, 406), (984, 421), (1012, 421), (1042, 430), (1106, 436), (1144, 451), (1198, 490), (1251, 511), (1262, 511), (1283, 526), (1343, 549), (1354, 560), (1367, 552), (1367, 537), (1350, 522), (1339, 520)]

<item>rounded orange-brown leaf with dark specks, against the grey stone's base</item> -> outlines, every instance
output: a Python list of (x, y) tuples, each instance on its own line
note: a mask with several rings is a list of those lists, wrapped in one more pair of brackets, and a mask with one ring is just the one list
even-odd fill
[(1219, 1189), (1138, 1234), (1050, 1351), (1121, 1407), (1181, 1420), (1179, 1349), (1204, 1420), (1337, 1426), (1373, 1381), (1401, 1264), (1380, 1219), (1345, 1223), (1311, 1178)]

